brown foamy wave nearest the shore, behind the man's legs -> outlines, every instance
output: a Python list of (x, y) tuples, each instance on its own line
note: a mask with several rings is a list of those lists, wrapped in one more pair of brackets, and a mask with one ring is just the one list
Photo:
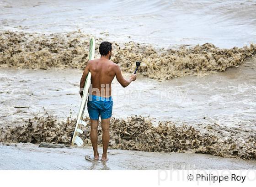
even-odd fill
[[(85, 145), (91, 145), (90, 120), (80, 135)], [(70, 133), (75, 127), (75, 119), (58, 121), (48, 115), (29, 119), (22, 126), (6, 126), (0, 129), (0, 141), (55, 143), (69, 145)], [(219, 125), (205, 125), (205, 132), (189, 125), (177, 126), (171, 121), (159, 122), (158, 126), (141, 116), (131, 116), (127, 120), (112, 118), (110, 143), (113, 149), (150, 152), (192, 152), (222, 157), (256, 159), (256, 132), (246, 128), (228, 128)], [(101, 145), (102, 131), (99, 125), (98, 144)]]

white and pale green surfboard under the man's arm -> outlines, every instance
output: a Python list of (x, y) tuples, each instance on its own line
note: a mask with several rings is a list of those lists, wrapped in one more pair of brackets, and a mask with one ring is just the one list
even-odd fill
[[(91, 37), (90, 39), (90, 47), (89, 47), (89, 60), (93, 60), (95, 55), (95, 40), (94, 37)], [(84, 132), (81, 130), (82, 125), (86, 126), (86, 122), (83, 120), (84, 112), (85, 112), (85, 105), (88, 99), (89, 94), (89, 87), (91, 85), (91, 73), (89, 72), (86, 80), (85, 80), (85, 86), (84, 86), (84, 92), (82, 96), (82, 101), (80, 104), (80, 109), (78, 112), (78, 117), (75, 124), (75, 131), (71, 137), (70, 143), (71, 145), (84, 145), (83, 140), (79, 137), (79, 135), (83, 134)]]

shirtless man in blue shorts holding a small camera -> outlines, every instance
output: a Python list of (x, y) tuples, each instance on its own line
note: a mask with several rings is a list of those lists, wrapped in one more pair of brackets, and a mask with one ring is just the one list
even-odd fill
[[(80, 90), (85, 86), (85, 79), (89, 71), (91, 72), (91, 87), (89, 89), (89, 99), (87, 103), (88, 113), (91, 120), (91, 144), (94, 152), (94, 159), (99, 160), (97, 129), (99, 125), (99, 116), (101, 116), (102, 161), (107, 161), (107, 147), (109, 144), (109, 123), (112, 116), (113, 101), (111, 97), (111, 83), (116, 76), (117, 81), (127, 87), (137, 78), (132, 74), (128, 80), (123, 78), (119, 66), (110, 60), (112, 56), (112, 43), (102, 42), (99, 47), (101, 58), (90, 60), (84, 70), (80, 81)], [(82, 96), (82, 93), (80, 93)]]

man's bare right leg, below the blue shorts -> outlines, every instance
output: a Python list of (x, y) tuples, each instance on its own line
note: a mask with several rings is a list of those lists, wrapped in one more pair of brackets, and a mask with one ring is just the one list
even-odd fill
[(102, 144), (103, 144), (103, 154), (102, 161), (107, 161), (107, 147), (109, 144), (109, 123), (110, 118), (101, 120), (101, 128), (102, 128)]

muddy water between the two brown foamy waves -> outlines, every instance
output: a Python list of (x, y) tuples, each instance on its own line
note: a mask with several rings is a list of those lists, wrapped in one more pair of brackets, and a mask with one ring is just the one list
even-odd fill
[[(28, 70), (0, 68), (0, 125), (21, 124), (47, 110), (59, 119), (80, 106), (77, 69)], [(128, 76), (128, 74), (126, 74)], [(225, 126), (256, 124), (256, 61), (202, 78), (187, 76), (158, 82), (139, 76), (127, 88), (113, 81), (113, 116), (149, 116), (155, 122)], [(85, 115), (88, 116), (87, 110)]]

